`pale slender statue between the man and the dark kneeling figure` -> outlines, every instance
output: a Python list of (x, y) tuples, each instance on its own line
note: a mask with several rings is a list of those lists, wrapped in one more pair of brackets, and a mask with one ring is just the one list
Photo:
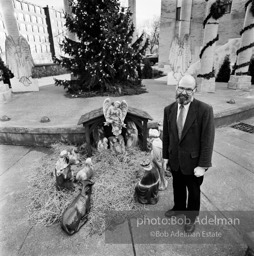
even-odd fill
[(162, 166), (162, 140), (160, 139), (160, 132), (157, 129), (150, 129), (149, 137), (152, 140), (152, 161), (160, 175), (159, 190), (165, 190), (168, 186), (168, 181), (165, 179), (165, 170)]

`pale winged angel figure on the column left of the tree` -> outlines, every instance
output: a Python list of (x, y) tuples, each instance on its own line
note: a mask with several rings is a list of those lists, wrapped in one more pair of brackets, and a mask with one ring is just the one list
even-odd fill
[(34, 66), (30, 46), (23, 36), (19, 36), (16, 44), (11, 36), (6, 37), (6, 63), (12, 73), (24, 86), (29, 86), (32, 82), (32, 67)]

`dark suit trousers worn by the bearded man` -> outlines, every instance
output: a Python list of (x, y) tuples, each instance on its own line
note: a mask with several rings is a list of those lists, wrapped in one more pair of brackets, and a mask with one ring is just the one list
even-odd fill
[[(186, 211), (186, 217), (194, 221), (200, 209), (200, 186), (203, 176), (184, 175), (181, 170), (172, 171), (174, 210)], [(187, 195), (188, 191), (188, 195)]]

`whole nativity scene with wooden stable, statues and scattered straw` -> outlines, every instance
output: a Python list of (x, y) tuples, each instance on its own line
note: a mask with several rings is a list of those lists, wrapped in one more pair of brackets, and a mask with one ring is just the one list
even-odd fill
[[(33, 211), (37, 218), (45, 216), (47, 224), (58, 221), (68, 235), (86, 223), (101, 233), (108, 225), (105, 209), (117, 213), (117, 209), (140, 210), (157, 204), (168, 182), (161, 164), (159, 125), (148, 128), (148, 120), (152, 117), (145, 111), (132, 108), (125, 100), (109, 98), (101, 108), (81, 116), (79, 124), (87, 131), (85, 143), (77, 148), (65, 145), (58, 151), (46, 182), (53, 183), (47, 190), (50, 195), (44, 198), (43, 184), (35, 186)], [(110, 218), (114, 220), (114, 215)]]

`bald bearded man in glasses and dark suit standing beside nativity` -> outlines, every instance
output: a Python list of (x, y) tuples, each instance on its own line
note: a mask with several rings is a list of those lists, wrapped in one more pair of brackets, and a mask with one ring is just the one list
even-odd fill
[(165, 107), (163, 121), (163, 168), (171, 169), (174, 192), (174, 207), (165, 216), (185, 214), (188, 233), (195, 230), (200, 186), (205, 171), (212, 166), (215, 133), (213, 109), (194, 99), (196, 88), (194, 77), (182, 77), (176, 102)]

